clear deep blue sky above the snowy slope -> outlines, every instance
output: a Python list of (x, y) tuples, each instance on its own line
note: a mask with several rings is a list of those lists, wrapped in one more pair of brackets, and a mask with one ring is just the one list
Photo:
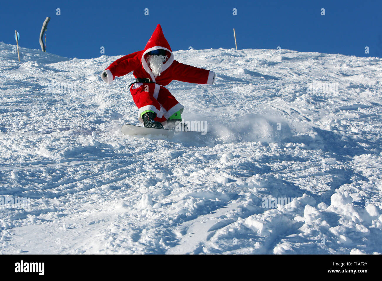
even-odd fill
[[(0, 41), (65, 57), (126, 55), (141, 50), (160, 23), (173, 50), (235, 47), (382, 57), (382, 1), (3, 1)], [(61, 15), (56, 15), (60, 8)], [(145, 8), (149, 15), (144, 15)], [(232, 15), (233, 8), (237, 15)], [(320, 15), (325, 8), (325, 16)], [(365, 54), (365, 47), (369, 54)]]

